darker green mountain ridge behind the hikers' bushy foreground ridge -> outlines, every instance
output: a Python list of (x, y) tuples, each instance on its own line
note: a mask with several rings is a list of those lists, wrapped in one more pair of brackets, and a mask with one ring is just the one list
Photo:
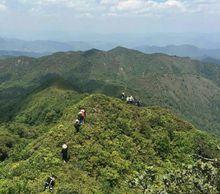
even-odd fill
[(33, 90), (58, 79), (78, 92), (118, 96), (122, 90), (146, 105), (171, 108), (196, 126), (220, 133), (220, 67), (189, 58), (147, 55), (117, 47), (108, 52), (55, 53), (40, 59), (0, 60), (1, 119)]

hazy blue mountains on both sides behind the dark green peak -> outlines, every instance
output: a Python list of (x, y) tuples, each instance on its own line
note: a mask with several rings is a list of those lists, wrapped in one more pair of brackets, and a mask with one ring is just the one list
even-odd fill
[[(117, 43), (93, 41), (57, 42), (49, 40), (24, 41), (19, 39), (0, 38), (0, 58), (10, 56), (41, 57), (55, 52), (86, 51), (92, 48), (110, 50)], [(138, 46), (134, 49), (146, 54), (163, 53), (179, 57), (190, 57), (204, 62), (220, 64), (220, 49), (202, 49), (193, 45)]]

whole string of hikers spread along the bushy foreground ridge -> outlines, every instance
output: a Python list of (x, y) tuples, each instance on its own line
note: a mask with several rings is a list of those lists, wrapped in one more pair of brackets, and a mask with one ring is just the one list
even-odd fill
[[(126, 96), (124, 92), (122, 92), (121, 94), (121, 100), (126, 101), (128, 104), (136, 105), (139, 107), (142, 105), (140, 100), (135, 99), (133, 96)], [(75, 123), (74, 123), (76, 132), (79, 132), (80, 127), (85, 123), (85, 119), (86, 119), (86, 110), (84, 108), (81, 108), (77, 115), (77, 119), (75, 120)], [(68, 162), (69, 154), (68, 154), (67, 143), (64, 143), (62, 145), (61, 157), (64, 163)], [(57, 177), (55, 175), (51, 175), (50, 177), (48, 177), (44, 184), (44, 190), (49, 189), (52, 192), (55, 186), (56, 178)]]

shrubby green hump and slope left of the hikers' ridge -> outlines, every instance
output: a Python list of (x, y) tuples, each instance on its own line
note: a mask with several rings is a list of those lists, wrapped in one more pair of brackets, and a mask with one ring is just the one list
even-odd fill
[(38, 88), (14, 110), (16, 115), (10, 122), (0, 124), (0, 161), (5, 160), (16, 145), (23, 147), (49, 130), (63, 116), (67, 106), (85, 96), (63, 84), (59, 81)]

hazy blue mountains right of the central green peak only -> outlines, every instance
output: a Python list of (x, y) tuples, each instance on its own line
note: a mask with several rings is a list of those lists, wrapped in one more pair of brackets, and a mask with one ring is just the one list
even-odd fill
[(180, 57), (191, 57), (194, 59), (213, 58), (220, 60), (220, 49), (201, 49), (192, 45), (169, 45), (164, 47), (140, 46), (135, 49), (147, 54), (164, 53)]

